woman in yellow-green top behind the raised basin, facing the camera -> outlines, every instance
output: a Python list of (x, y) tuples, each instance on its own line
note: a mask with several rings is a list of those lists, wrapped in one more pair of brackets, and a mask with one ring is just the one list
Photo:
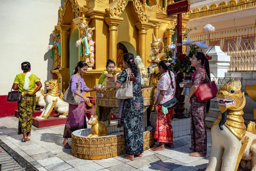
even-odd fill
[[(115, 71), (116, 63), (113, 62), (111, 59), (108, 59), (107, 64), (106, 64), (106, 69), (103, 71), (102, 75), (99, 77), (98, 84), (101, 84), (102, 87), (105, 86), (105, 82), (107, 78), (113, 78), (112, 73)], [(99, 110), (98, 106), (96, 105), (96, 115), (99, 116)], [(110, 120), (109, 120), (110, 122)]]

